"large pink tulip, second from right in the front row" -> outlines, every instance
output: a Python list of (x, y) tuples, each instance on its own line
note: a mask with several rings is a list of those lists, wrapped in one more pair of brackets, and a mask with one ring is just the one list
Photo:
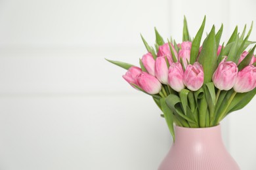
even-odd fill
[[(226, 58), (225, 58), (226, 59)], [(213, 74), (213, 83), (219, 90), (230, 90), (236, 83), (238, 67), (232, 61), (221, 61)]]

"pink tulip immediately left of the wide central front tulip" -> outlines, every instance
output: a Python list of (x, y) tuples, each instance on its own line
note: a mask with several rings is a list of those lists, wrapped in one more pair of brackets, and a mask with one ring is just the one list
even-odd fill
[(181, 92), (185, 88), (183, 83), (183, 74), (181, 63), (171, 63), (168, 73), (168, 84), (176, 92)]

